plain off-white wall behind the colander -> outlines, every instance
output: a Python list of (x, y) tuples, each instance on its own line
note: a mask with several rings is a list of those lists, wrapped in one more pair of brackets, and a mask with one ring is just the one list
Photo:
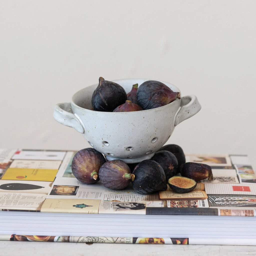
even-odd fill
[(255, 13), (254, 0), (0, 0), (0, 147), (88, 147), (55, 104), (100, 76), (150, 78), (202, 105), (168, 143), (256, 169)]

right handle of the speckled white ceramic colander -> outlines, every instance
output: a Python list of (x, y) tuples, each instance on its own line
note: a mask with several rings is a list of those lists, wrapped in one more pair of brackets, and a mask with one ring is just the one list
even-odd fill
[(195, 115), (201, 109), (201, 105), (195, 95), (181, 98), (180, 109), (175, 116), (174, 126)]

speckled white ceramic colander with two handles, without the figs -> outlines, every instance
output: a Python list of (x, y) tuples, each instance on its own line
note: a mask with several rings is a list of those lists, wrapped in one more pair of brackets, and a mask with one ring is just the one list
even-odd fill
[[(135, 83), (150, 79), (114, 80), (127, 92)], [(174, 85), (161, 81), (173, 91)], [(70, 103), (59, 103), (54, 109), (54, 119), (82, 133), (95, 150), (107, 160), (121, 159), (137, 163), (150, 159), (172, 135), (180, 122), (190, 118), (201, 109), (197, 97), (189, 95), (172, 103), (149, 110), (135, 112), (99, 112), (91, 110), (92, 93), (98, 84), (76, 92)], [(181, 95), (182, 96), (182, 95)]]

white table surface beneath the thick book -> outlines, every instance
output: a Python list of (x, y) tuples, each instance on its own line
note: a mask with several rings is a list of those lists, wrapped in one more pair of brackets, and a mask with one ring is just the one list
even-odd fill
[(0, 254), (19, 256), (115, 256), (115, 255), (256, 255), (256, 246), (221, 246), (221, 245), (177, 245), (177, 244), (86, 244), (65, 242), (20, 242), (0, 241)]

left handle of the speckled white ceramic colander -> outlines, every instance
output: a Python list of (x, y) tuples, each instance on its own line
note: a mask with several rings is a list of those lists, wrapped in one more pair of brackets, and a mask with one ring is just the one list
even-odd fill
[(80, 133), (84, 133), (84, 128), (79, 121), (78, 116), (73, 114), (70, 103), (58, 103), (54, 108), (53, 118), (66, 126), (74, 128)]

